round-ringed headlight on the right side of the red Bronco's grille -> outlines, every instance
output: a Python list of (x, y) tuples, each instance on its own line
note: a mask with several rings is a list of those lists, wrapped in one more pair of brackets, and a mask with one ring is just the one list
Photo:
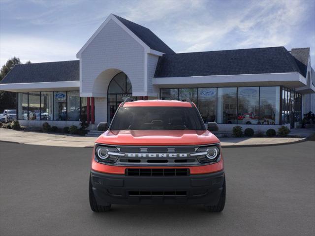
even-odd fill
[(195, 156), (199, 162), (218, 162), (220, 161), (220, 144), (200, 147), (197, 149), (196, 153), (190, 154), (190, 156)]

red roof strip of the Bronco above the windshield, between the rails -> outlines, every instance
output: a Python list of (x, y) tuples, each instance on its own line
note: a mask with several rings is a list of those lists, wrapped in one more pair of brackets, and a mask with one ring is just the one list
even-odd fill
[(177, 100), (138, 100), (126, 102), (124, 107), (192, 107), (190, 102), (181, 102)]

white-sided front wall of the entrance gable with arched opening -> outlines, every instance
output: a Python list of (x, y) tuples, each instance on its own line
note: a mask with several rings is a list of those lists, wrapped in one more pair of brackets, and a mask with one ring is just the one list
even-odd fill
[[(126, 73), (133, 92), (144, 91), (144, 48), (116, 22), (110, 20), (81, 55), (82, 93), (92, 93), (96, 77), (104, 70), (118, 69)], [(112, 78), (106, 78), (111, 80)], [(105, 83), (105, 84), (108, 84)], [(107, 93), (107, 88), (104, 93)], [(99, 88), (97, 89), (99, 90)]]

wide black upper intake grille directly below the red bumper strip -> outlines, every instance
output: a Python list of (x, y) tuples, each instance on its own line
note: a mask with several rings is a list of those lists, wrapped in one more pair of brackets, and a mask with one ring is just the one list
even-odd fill
[(189, 169), (126, 169), (127, 176), (189, 176)]

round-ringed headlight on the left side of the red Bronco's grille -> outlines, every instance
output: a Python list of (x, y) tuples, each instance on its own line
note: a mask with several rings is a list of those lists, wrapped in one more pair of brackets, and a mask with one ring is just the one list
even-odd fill
[(98, 162), (111, 162), (117, 161), (119, 156), (125, 156), (124, 153), (119, 153), (115, 147), (108, 147), (96, 144), (95, 145), (95, 161)]

